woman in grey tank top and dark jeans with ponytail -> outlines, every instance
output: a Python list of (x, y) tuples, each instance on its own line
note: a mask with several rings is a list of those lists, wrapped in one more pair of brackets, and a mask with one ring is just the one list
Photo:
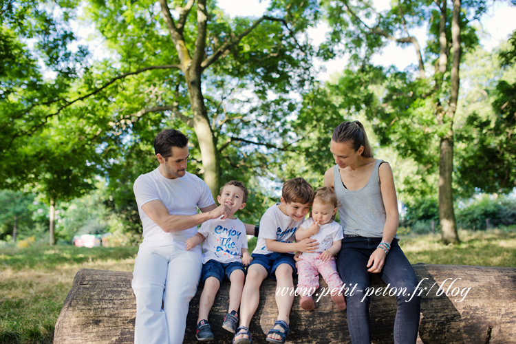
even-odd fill
[[(330, 145), (336, 165), (324, 175), (340, 202), (344, 230), (337, 270), (347, 296), (347, 327), (353, 344), (371, 343), (369, 273), (377, 273), (396, 293), (398, 310), (394, 342), (416, 343), (420, 318), (418, 279), (398, 245), (399, 214), (391, 167), (373, 158), (364, 127), (358, 120), (335, 128)], [(406, 288), (406, 289), (404, 289)]]

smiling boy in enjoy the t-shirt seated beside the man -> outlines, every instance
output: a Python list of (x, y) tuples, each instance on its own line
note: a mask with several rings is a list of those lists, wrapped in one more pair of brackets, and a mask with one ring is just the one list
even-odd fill
[(247, 195), (246, 186), (241, 182), (232, 180), (224, 184), (217, 196), (217, 202), (230, 208), (230, 216), (204, 222), (197, 234), (186, 240), (186, 250), (203, 243), (201, 282), (204, 283), (204, 289), (200, 297), (195, 329), (197, 341), (212, 341), (215, 338), (208, 323), (208, 314), (224, 277), (231, 282), (231, 286), (228, 314), (222, 327), (232, 333), (237, 329), (237, 311), (246, 272), (244, 266), (248, 266), (252, 258), (247, 252), (246, 228), (234, 215), (246, 206)]

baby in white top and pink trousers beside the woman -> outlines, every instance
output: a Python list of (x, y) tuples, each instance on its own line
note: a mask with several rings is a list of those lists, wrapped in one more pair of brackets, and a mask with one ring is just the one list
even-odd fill
[(297, 289), (301, 297), (303, 310), (314, 310), (312, 294), (319, 288), (319, 273), (330, 289), (330, 295), (338, 310), (346, 309), (346, 301), (342, 286), (343, 281), (338, 275), (335, 256), (341, 250), (344, 238), (342, 226), (334, 222), (332, 217), (337, 210), (337, 196), (327, 186), (317, 188), (312, 217), (308, 218), (296, 232), (296, 240), (305, 238), (316, 239), (319, 248), (315, 253), (304, 252), (297, 261)]

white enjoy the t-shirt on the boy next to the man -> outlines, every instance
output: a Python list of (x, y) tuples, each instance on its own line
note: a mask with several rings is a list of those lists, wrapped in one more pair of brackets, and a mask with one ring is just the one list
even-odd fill
[(198, 232), (206, 238), (202, 243), (202, 264), (210, 259), (222, 264), (241, 261), (241, 249), (247, 248), (247, 235), (239, 219), (210, 219)]

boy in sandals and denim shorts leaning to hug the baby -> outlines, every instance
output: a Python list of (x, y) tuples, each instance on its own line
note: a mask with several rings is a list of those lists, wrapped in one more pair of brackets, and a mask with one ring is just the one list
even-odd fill
[[(242, 291), (240, 326), (233, 344), (252, 343), (249, 324), (260, 299), (260, 285), (268, 276), (277, 280), (277, 290), (293, 290), (292, 273), (296, 270), (294, 252), (314, 252), (313, 239), (294, 241), (294, 233), (301, 226), (314, 199), (314, 190), (303, 178), (294, 178), (283, 184), (281, 203), (268, 208), (260, 220), (260, 231), (254, 259), (247, 269), (246, 284)], [(281, 293), (276, 297), (278, 318), (269, 330), (266, 341), (285, 343), (290, 332), (290, 308), (294, 295)]]

